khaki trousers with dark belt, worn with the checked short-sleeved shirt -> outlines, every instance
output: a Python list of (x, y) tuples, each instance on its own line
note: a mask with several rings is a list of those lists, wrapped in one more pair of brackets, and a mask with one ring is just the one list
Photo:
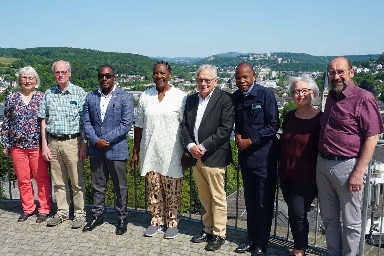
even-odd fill
[(80, 160), (81, 141), (81, 136), (69, 140), (56, 140), (48, 136), (48, 147), (51, 151), (51, 173), (53, 181), (56, 183), (53, 186), (53, 191), (56, 196), (57, 213), (61, 216), (69, 215), (68, 175), (73, 191), (74, 216), (86, 216), (84, 161)]

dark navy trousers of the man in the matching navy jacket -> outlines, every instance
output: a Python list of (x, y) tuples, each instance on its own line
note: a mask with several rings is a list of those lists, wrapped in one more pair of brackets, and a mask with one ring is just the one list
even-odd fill
[(260, 168), (241, 166), (247, 208), (247, 239), (266, 247), (271, 233), (276, 191), (276, 165)]

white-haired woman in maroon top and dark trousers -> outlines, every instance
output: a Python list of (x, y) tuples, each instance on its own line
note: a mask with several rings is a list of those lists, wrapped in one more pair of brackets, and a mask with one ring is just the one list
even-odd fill
[(307, 213), (317, 195), (316, 159), (323, 112), (312, 106), (319, 95), (315, 81), (309, 76), (292, 76), (289, 81), (297, 109), (284, 117), (279, 178), (294, 240), (293, 251), (286, 256), (303, 256), (308, 248)]

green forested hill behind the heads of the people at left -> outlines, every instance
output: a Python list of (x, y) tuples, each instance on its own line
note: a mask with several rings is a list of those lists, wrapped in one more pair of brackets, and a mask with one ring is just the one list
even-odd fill
[[(95, 90), (99, 83), (97, 80), (97, 70), (101, 65), (109, 64), (113, 66), (115, 72), (121, 75), (140, 75), (145, 76), (147, 81), (126, 82), (126, 85), (139, 85), (141, 83), (152, 83), (152, 68), (156, 60), (149, 57), (132, 54), (101, 52), (91, 49), (68, 48), (68, 47), (39, 47), (39, 48), (0, 48), (0, 57), (18, 58), (13, 62), (12, 68), (8, 68), (7, 73), (11, 76), (18, 68), (32, 66), (40, 76), (42, 91), (55, 85), (51, 65), (57, 60), (67, 60), (71, 62), (72, 76), (71, 82), (86, 91)], [(172, 75), (179, 75), (183, 72), (195, 71), (194, 67), (182, 68), (181, 65), (171, 63)]]

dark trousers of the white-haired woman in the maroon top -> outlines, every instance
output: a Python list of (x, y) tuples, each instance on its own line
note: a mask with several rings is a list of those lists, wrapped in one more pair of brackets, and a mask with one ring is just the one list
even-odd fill
[(310, 225), (307, 213), (317, 196), (316, 185), (305, 185), (289, 180), (281, 180), (281, 191), (288, 206), (289, 223), (296, 250), (308, 248)]

